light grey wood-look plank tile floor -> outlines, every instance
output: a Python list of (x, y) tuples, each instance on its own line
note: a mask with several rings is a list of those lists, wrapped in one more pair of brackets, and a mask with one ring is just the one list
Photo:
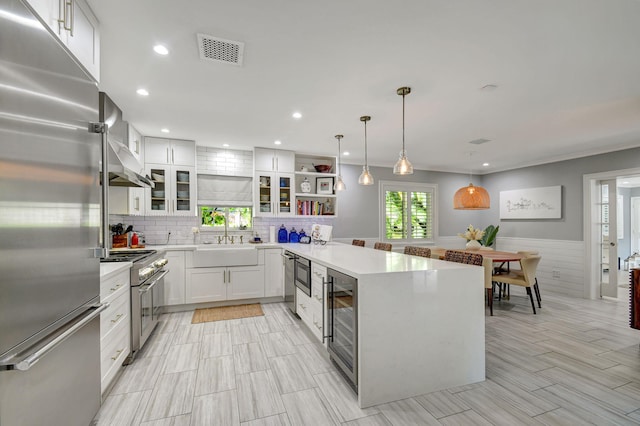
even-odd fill
[[(519, 290), (519, 289), (518, 289)], [(97, 425), (637, 425), (640, 331), (628, 300), (514, 291), (486, 317), (487, 380), (360, 409), (326, 351), (283, 304), (191, 325), (167, 314)]]

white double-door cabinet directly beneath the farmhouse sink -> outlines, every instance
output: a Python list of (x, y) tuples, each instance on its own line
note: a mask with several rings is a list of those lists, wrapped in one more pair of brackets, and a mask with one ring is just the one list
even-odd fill
[(264, 297), (264, 265), (187, 269), (187, 303), (258, 297)]

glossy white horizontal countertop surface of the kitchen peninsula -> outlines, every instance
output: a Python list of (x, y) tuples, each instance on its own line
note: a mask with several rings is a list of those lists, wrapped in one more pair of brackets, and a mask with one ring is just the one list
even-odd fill
[(313, 262), (318, 262), (353, 277), (370, 274), (433, 271), (469, 268), (470, 265), (445, 262), (402, 253), (357, 247), (350, 244), (280, 244), (280, 246)]

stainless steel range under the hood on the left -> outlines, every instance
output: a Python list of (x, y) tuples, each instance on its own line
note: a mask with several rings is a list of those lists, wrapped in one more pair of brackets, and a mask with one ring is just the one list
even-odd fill
[(158, 324), (164, 301), (164, 277), (169, 273), (164, 252), (111, 251), (103, 262), (133, 262), (131, 267), (131, 355), (133, 362)]

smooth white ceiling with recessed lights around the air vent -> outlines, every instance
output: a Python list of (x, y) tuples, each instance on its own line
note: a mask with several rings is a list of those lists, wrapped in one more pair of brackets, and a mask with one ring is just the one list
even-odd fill
[[(342, 133), (344, 161), (361, 164), (359, 117), (371, 115), (369, 163), (392, 166), (406, 85), (418, 169), (487, 173), (640, 146), (638, 0), (89, 3), (100, 88), (145, 135), (335, 155)], [(244, 64), (200, 60), (197, 33), (244, 42)], [(468, 143), (479, 138), (490, 142)]]

